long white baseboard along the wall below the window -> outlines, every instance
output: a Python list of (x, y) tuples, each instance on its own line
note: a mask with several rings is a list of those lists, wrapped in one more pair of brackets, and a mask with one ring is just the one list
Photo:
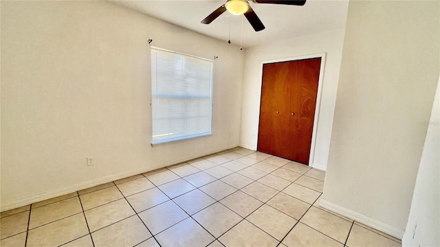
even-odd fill
[(8, 211), (10, 209), (17, 209), (19, 207), (23, 207), (23, 206), (26, 206), (26, 205), (29, 205), (29, 204), (32, 204), (32, 203), (35, 203), (35, 202), (41, 202), (43, 200), (47, 200), (47, 199), (50, 199), (50, 198), (55, 198), (57, 196), (66, 195), (68, 193), (74, 193), (74, 192), (80, 191), (82, 189), (88, 189), (88, 188), (94, 187), (96, 185), (102, 185), (104, 183), (113, 182), (113, 181), (118, 180), (118, 179), (127, 178), (129, 176), (135, 176), (137, 174), (142, 174), (144, 172), (153, 171), (155, 169), (159, 169), (159, 168), (162, 168), (162, 167), (167, 167), (169, 165), (175, 165), (175, 164), (178, 164), (178, 163), (181, 163), (181, 162), (190, 161), (190, 160), (192, 160), (194, 158), (199, 158), (201, 156), (206, 156), (208, 154), (214, 154), (216, 152), (221, 152), (223, 150), (228, 150), (230, 148), (235, 148), (236, 146), (238, 146), (238, 144), (232, 145), (232, 146), (228, 146), (226, 148), (222, 148), (221, 150), (217, 150), (217, 151), (214, 151), (214, 152), (203, 152), (201, 154), (198, 154), (197, 156), (188, 156), (186, 158), (179, 158), (179, 159), (176, 159), (176, 160), (173, 160), (173, 161), (167, 161), (166, 163), (162, 163), (161, 165), (155, 165), (154, 167), (135, 169), (135, 170), (131, 170), (131, 171), (128, 171), (128, 172), (121, 172), (119, 174), (113, 174), (111, 176), (105, 176), (103, 178), (97, 178), (97, 179), (94, 179), (94, 180), (87, 181), (85, 183), (79, 183), (79, 184), (76, 184), (76, 185), (69, 186), (67, 188), (58, 189), (56, 191), (47, 192), (47, 193), (41, 193), (39, 195), (30, 196), (28, 198), (23, 198), (23, 199), (14, 201), (14, 202), (1, 204), (0, 212)]

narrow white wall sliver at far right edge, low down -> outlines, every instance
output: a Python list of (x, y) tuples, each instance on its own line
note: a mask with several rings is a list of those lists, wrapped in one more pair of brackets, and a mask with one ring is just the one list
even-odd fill
[(440, 246), (439, 92), (437, 84), (402, 246)]

